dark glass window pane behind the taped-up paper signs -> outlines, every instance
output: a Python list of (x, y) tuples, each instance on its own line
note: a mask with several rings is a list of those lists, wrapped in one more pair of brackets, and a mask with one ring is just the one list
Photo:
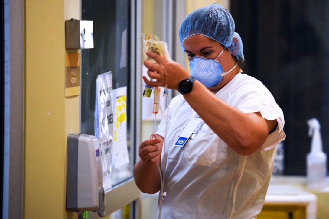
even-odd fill
[[(118, 168), (112, 165), (112, 185), (132, 177), (134, 150), (130, 143), (130, 1), (82, 0), (82, 20), (93, 21), (94, 48), (82, 49), (81, 132), (94, 132), (96, 79), (112, 72), (113, 90), (127, 87), (126, 119), (130, 162)], [(114, 93), (114, 92), (113, 92)], [(115, 101), (115, 97), (113, 97)], [(112, 156), (114, 156), (112, 154)]]

